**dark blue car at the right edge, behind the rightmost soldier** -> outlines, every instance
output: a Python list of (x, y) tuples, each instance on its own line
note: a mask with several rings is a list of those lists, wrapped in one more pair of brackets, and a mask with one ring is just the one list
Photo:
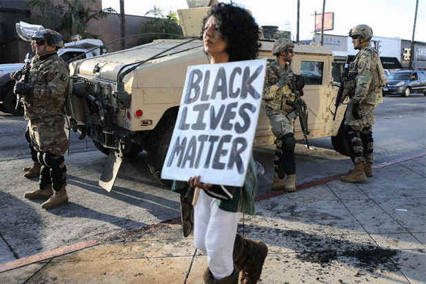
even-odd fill
[(419, 70), (400, 70), (389, 74), (387, 86), (383, 87), (383, 96), (400, 94), (409, 97), (410, 94), (423, 93), (426, 96), (426, 74)]

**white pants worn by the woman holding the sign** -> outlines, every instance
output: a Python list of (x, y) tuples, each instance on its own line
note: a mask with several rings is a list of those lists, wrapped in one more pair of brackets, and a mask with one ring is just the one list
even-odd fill
[(200, 190), (194, 208), (194, 246), (207, 253), (207, 263), (214, 278), (230, 276), (234, 271), (232, 251), (236, 227), (243, 216), (241, 212), (219, 209), (214, 199)]

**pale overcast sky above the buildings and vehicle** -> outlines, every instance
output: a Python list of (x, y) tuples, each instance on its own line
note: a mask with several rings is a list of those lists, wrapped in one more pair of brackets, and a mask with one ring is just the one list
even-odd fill
[[(229, 1), (225, 1), (228, 2)], [(250, 10), (259, 26), (278, 26), (290, 30), (296, 39), (297, 0), (236, 0)], [(103, 8), (120, 12), (119, 0), (102, 0)], [(323, 10), (322, 0), (300, 0), (299, 39), (312, 39), (314, 14)], [(154, 5), (165, 11), (186, 9), (186, 0), (136, 1), (124, 0), (125, 14), (144, 16)], [(365, 23), (377, 37), (412, 39), (416, 0), (326, 0), (325, 12), (334, 12), (334, 30), (325, 34), (347, 35), (352, 27)], [(418, 1), (415, 41), (426, 42), (426, 1)]]

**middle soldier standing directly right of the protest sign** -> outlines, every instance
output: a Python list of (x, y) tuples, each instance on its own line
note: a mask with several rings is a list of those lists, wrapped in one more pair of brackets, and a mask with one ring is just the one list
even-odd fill
[(266, 115), (270, 119), (272, 133), (276, 136), (272, 190), (287, 192), (296, 191), (294, 119), (287, 119), (287, 114), (294, 110), (287, 101), (294, 101), (296, 98), (288, 85), (290, 79), (296, 77), (290, 66), (294, 56), (293, 48), (294, 43), (290, 39), (278, 39), (274, 42), (272, 54), (276, 56), (276, 60), (267, 65), (263, 88)]

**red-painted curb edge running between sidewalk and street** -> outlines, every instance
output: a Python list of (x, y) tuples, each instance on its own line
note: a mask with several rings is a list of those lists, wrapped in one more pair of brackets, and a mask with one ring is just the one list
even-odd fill
[[(377, 168), (383, 168), (383, 167), (386, 167), (387, 165), (394, 165), (395, 163), (400, 163), (400, 162), (403, 162), (403, 161), (416, 159), (420, 156), (426, 156), (426, 152), (416, 154), (416, 155), (413, 155), (413, 156), (408, 156), (408, 157), (401, 158), (401, 159), (396, 159), (394, 161), (380, 163), (378, 165), (374, 165), (373, 168), (376, 168), (376, 169)], [(328, 176), (328, 177), (325, 177), (323, 179), (318, 179), (317, 181), (310, 181), (309, 183), (303, 183), (301, 185), (297, 185), (296, 191), (297, 190), (304, 190), (304, 189), (309, 188), (309, 187), (314, 187), (316, 185), (328, 183), (329, 181), (335, 181), (336, 179), (339, 179), (344, 174), (345, 173), (336, 174), (334, 176)], [(280, 191), (280, 192), (272, 192), (272, 193), (268, 193), (268, 194), (263, 194), (261, 196), (257, 196), (254, 199), (254, 201), (256, 201), (256, 202), (263, 201), (265, 199), (270, 199), (272, 197), (280, 196), (280, 195), (287, 194), (287, 193), (289, 193), (289, 192)], [(30, 265), (32, 263), (47, 261), (50, 258), (63, 256), (65, 254), (70, 254), (72, 252), (77, 252), (79, 250), (83, 250), (83, 249), (88, 248), (88, 247), (94, 247), (95, 245), (101, 245), (101, 244), (106, 243), (108, 241), (114, 241), (116, 239), (125, 239), (125, 238), (131, 237), (131, 236), (135, 236), (135, 235), (139, 234), (139, 232), (152, 232), (152, 231), (155, 231), (155, 230), (159, 230), (163, 227), (171, 227), (172, 225), (177, 225), (177, 224), (180, 224), (180, 223), (181, 223), (181, 217), (176, 217), (176, 218), (173, 218), (173, 219), (162, 221), (160, 223), (155, 223), (155, 224), (152, 224), (152, 225), (146, 225), (146, 226), (138, 227), (138, 228), (135, 228), (135, 229), (132, 229), (132, 230), (125, 230), (123, 232), (119, 232), (118, 234), (114, 234), (112, 236), (104, 236), (101, 239), (96, 239), (96, 240), (92, 240), (92, 241), (85, 241), (85, 242), (82, 242), (82, 243), (74, 243), (73, 245), (67, 245), (65, 247), (59, 247), (57, 249), (50, 250), (48, 252), (41, 252), (39, 254), (34, 254), (32, 256), (19, 258), (15, 261), (10, 261), (8, 263), (0, 264), (0, 273), (6, 272), (8, 270), (14, 270), (14, 269), (17, 269), (19, 267)]]

